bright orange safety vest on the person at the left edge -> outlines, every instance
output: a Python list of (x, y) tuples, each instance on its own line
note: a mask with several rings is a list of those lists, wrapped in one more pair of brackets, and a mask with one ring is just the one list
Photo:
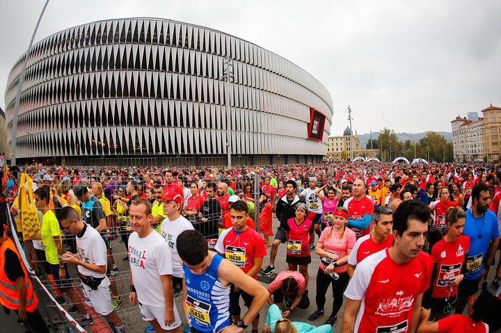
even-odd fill
[(28, 272), (26, 272), (26, 267), (24, 267), (24, 263), (21, 260), (21, 256), (19, 256), (19, 252), (17, 252), (17, 248), (14, 245), (14, 242), (7, 238), (0, 245), (0, 303), (11, 310), (19, 309), (19, 291), (17, 290), (17, 282), (10, 281), (5, 273), (5, 252), (6, 250), (12, 250), (16, 255), (17, 259), (19, 259), (19, 263), (21, 263), (22, 270), (24, 272), (24, 284), (26, 284), (26, 312), (35, 311), (38, 298), (33, 291), (33, 285), (28, 277)]

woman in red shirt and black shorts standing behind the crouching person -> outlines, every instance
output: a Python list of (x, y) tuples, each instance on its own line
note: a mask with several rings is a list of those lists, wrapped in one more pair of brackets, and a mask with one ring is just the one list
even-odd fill
[(284, 225), (285, 235), (287, 238), (287, 258), (289, 270), (298, 270), (305, 278), (305, 283), (308, 286), (308, 265), (311, 263), (310, 247), (315, 239), (315, 231), (313, 222), (306, 218), (308, 207), (299, 202), (295, 209), (296, 217), (289, 218), (287, 224)]

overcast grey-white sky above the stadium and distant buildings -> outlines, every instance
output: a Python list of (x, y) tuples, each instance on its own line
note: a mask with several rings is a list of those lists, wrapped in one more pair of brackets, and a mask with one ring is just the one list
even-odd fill
[[(43, 0), (1, 1), (0, 107)], [(456, 115), (501, 106), (501, 1), (51, 0), (35, 41), (79, 24), (162, 17), (253, 42), (315, 76), (333, 98), (331, 136), (451, 131)]]

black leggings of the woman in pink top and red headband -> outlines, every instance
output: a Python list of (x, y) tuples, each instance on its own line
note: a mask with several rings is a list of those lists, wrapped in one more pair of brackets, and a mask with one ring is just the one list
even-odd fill
[(341, 309), (342, 293), (348, 282), (348, 273), (341, 273), (339, 279), (333, 279), (331, 275), (324, 273), (320, 268), (317, 273), (317, 309), (323, 310), (326, 302), (326, 293), (329, 284), (332, 283), (333, 289), (333, 311), (332, 315), (336, 316), (337, 311)]

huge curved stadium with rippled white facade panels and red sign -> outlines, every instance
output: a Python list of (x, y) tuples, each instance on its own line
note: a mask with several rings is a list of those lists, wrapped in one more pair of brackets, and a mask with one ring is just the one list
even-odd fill
[(8, 77), (9, 138), (26, 56), (17, 164), (225, 165), (227, 133), (232, 165), (326, 154), (326, 88), (289, 60), (220, 31), (111, 19), (41, 40)]

